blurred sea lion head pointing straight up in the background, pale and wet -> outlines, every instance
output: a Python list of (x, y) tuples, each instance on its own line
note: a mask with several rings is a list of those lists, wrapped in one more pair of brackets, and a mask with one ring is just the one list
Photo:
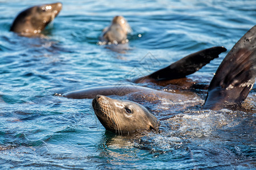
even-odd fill
[(99, 44), (125, 44), (128, 42), (127, 33), (131, 32), (131, 27), (123, 16), (115, 16), (109, 27), (106, 27), (100, 36)]

